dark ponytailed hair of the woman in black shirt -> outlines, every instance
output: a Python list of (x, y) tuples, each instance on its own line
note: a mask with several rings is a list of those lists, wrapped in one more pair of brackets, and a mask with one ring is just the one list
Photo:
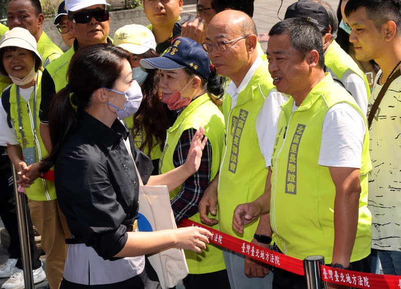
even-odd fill
[[(111, 44), (85, 46), (75, 52), (68, 68), (68, 85), (53, 98), (49, 110), (49, 129), (52, 152), (42, 161), (41, 172), (48, 171), (65, 139), (76, 129), (78, 109), (92, 105), (92, 94), (99, 88), (112, 89), (120, 77), (123, 60), (130, 53)], [(70, 99), (70, 93), (71, 99)]]

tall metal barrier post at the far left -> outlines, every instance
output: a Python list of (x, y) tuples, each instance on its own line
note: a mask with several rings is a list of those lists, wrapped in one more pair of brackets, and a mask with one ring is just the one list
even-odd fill
[(13, 177), (14, 177), (14, 192), (16, 196), (16, 207), (18, 217), (18, 231), (20, 234), (21, 243), (21, 256), (22, 256), (22, 268), (24, 271), (24, 282), (26, 289), (34, 289), (34, 276), (32, 274), (32, 260), (31, 260), (31, 246), (29, 243), (29, 232), (27, 222), (27, 208), (28, 199), (24, 193), (18, 191), (18, 176), (17, 171), (12, 163)]

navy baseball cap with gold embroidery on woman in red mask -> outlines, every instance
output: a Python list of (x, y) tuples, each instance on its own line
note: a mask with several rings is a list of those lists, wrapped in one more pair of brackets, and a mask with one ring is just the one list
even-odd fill
[(172, 41), (161, 57), (141, 59), (141, 66), (146, 69), (174, 70), (190, 68), (205, 79), (210, 76), (210, 60), (202, 45), (186, 37)]

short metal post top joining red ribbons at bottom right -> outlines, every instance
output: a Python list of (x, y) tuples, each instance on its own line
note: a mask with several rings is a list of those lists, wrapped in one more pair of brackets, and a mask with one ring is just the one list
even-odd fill
[(320, 270), (320, 265), (324, 265), (324, 257), (308, 256), (303, 261), (308, 289), (327, 289), (327, 284), (322, 280)]

